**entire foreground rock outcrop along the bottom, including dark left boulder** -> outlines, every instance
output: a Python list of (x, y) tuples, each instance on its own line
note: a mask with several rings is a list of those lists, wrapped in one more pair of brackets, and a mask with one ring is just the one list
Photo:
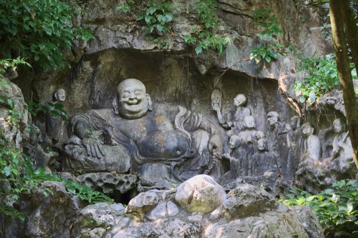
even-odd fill
[[(8, 226), (6, 237), (58, 238), (322, 238), (315, 213), (289, 209), (254, 185), (228, 194), (211, 177), (198, 175), (173, 190), (138, 194), (122, 204), (85, 206), (61, 183), (46, 182), (20, 207), (25, 223)], [(186, 191), (186, 194), (185, 194)], [(17, 232), (15, 232), (17, 230)]]

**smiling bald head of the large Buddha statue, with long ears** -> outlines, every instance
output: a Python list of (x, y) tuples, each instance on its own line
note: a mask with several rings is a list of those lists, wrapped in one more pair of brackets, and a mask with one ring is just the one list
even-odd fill
[(137, 119), (152, 110), (152, 100), (146, 87), (138, 79), (125, 79), (118, 84), (117, 98), (113, 100), (116, 115), (126, 119)]

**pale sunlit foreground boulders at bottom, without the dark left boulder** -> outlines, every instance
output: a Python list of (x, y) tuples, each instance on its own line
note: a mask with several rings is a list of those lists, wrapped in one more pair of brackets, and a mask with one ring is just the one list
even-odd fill
[(223, 191), (211, 177), (198, 175), (173, 190), (140, 193), (126, 209), (90, 205), (79, 213), (72, 237), (323, 237), (308, 207), (288, 209), (265, 190), (248, 184), (228, 194)]

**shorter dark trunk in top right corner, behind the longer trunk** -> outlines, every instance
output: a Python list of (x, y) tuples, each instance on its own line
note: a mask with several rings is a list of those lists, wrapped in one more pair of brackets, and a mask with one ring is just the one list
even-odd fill
[(351, 48), (351, 53), (353, 57), (354, 65), (358, 70), (358, 27), (354, 20), (352, 9), (349, 5), (349, 0), (341, 0), (342, 4), (342, 16), (343, 24), (346, 30), (346, 35), (348, 38), (349, 48)]

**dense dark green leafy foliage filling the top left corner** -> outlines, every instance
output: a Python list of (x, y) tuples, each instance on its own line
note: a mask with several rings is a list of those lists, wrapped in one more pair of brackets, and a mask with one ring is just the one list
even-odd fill
[(71, 7), (61, 0), (0, 0), (0, 58), (27, 58), (42, 69), (63, 68), (61, 49), (71, 40), (93, 38), (73, 27)]

